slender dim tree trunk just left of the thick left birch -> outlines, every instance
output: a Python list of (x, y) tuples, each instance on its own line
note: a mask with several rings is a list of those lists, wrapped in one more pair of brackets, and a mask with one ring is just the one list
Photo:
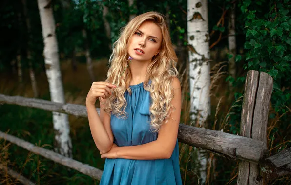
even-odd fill
[(34, 97), (37, 98), (39, 97), (39, 92), (38, 92), (38, 87), (37, 87), (37, 82), (35, 79), (35, 73), (33, 71), (32, 67), (32, 62), (31, 62), (31, 26), (30, 26), (30, 19), (27, 15), (27, 7), (26, 7), (26, 0), (22, 0), (22, 5), (23, 5), (23, 13), (26, 21), (26, 27), (27, 27), (27, 34), (28, 34), (28, 47), (27, 47), (27, 60), (28, 60), (28, 65), (29, 65), (29, 76), (30, 76), (30, 82), (31, 82), (31, 87), (33, 90)]

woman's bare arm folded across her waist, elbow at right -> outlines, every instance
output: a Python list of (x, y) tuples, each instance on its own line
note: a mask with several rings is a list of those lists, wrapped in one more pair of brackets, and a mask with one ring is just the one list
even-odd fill
[(172, 86), (174, 98), (171, 104), (175, 110), (171, 114), (171, 119), (161, 126), (157, 140), (137, 146), (117, 147), (114, 145), (109, 152), (102, 152), (102, 158), (150, 160), (171, 157), (177, 142), (181, 114), (181, 85), (178, 78), (173, 79)]

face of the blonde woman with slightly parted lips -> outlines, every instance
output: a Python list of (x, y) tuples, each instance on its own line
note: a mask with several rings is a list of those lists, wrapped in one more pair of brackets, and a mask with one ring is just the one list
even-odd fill
[(159, 53), (162, 32), (158, 25), (145, 21), (140, 25), (128, 42), (128, 54), (134, 60), (151, 61)]

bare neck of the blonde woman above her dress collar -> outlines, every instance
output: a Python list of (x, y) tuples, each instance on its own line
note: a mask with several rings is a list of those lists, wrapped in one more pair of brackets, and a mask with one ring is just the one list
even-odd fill
[(145, 81), (146, 69), (150, 61), (137, 61), (132, 59), (129, 64), (131, 80), (129, 85), (139, 84)]

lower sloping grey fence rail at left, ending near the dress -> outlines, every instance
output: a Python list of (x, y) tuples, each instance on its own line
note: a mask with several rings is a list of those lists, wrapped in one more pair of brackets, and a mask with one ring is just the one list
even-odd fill
[(95, 167), (89, 166), (87, 164), (83, 164), (79, 161), (76, 161), (74, 159), (62, 156), (58, 153), (55, 153), (53, 151), (50, 151), (48, 149), (44, 149), (41, 147), (37, 147), (27, 141), (24, 141), (22, 139), (19, 139), (15, 136), (12, 136), (10, 134), (6, 134), (4, 132), (0, 131), (0, 137), (6, 139), (7, 141), (16, 144), (19, 147), (25, 148), (28, 151), (31, 151), (35, 154), (41, 155), (47, 159), (50, 159), (52, 161), (55, 161), (61, 165), (73, 168), (85, 175), (88, 175), (94, 179), (101, 179), (103, 171), (100, 169), (97, 169)]

